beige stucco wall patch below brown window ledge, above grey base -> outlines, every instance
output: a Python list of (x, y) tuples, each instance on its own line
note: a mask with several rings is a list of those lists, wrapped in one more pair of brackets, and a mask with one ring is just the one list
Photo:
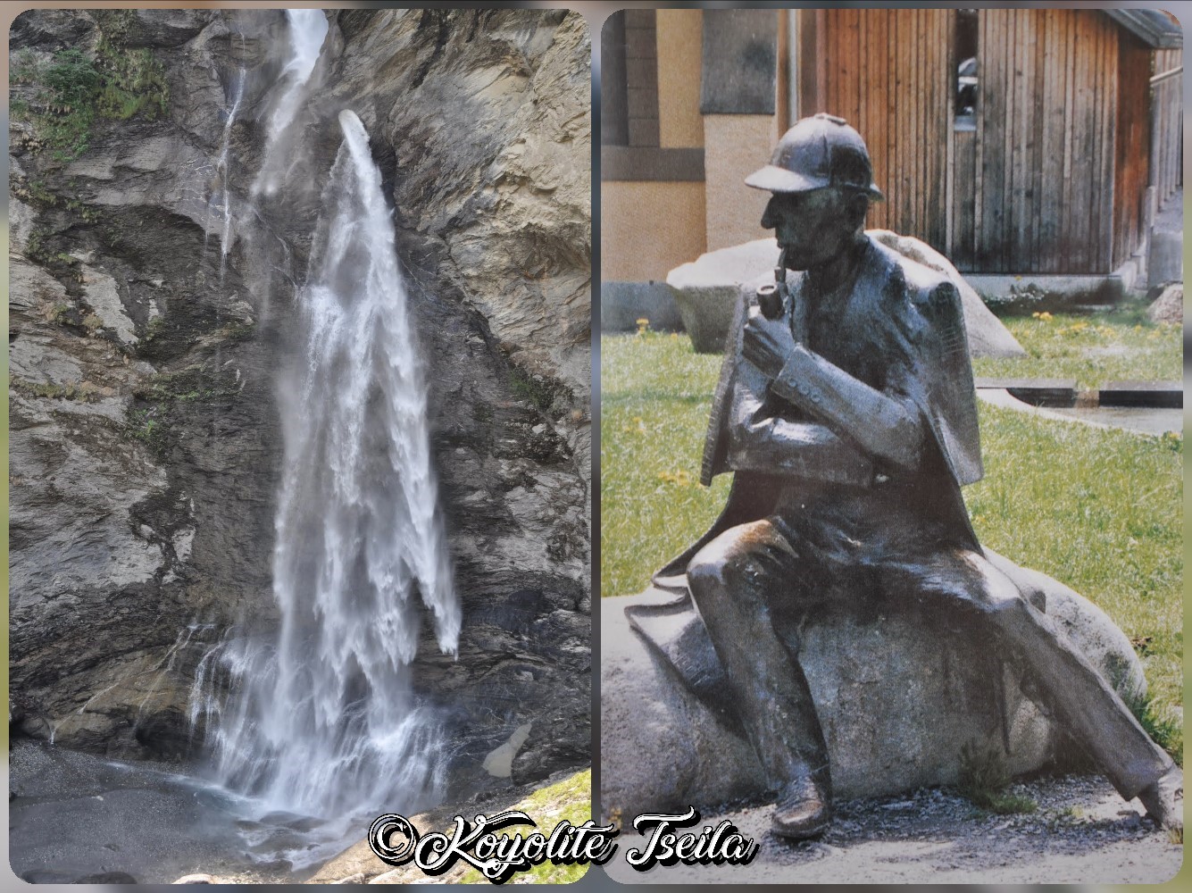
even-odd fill
[(702, 182), (601, 184), (601, 279), (664, 281), (703, 247)]

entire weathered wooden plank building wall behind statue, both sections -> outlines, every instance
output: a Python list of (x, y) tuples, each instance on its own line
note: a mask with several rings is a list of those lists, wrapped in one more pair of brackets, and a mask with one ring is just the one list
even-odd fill
[(981, 10), (976, 130), (954, 130), (955, 39), (950, 10), (800, 13), (799, 113), (864, 136), (889, 199), (870, 225), (967, 272), (1115, 269), (1140, 238), (1150, 51), (1095, 10)]

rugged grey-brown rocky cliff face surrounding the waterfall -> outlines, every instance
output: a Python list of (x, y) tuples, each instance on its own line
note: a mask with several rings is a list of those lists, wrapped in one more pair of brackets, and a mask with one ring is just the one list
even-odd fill
[(418, 686), (453, 711), (458, 789), (517, 730), (513, 779), (545, 777), (590, 750), (586, 25), (328, 15), (272, 194), (280, 11), (13, 26), (13, 724), (184, 756), (203, 653), (275, 621), (275, 371), (348, 107), (393, 200), (464, 604), (458, 661), (428, 632)]

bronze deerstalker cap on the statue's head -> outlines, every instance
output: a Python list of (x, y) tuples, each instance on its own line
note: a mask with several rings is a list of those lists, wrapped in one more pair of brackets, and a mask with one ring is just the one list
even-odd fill
[(770, 192), (809, 192), (825, 186), (851, 186), (875, 201), (886, 197), (874, 184), (874, 168), (861, 134), (844, 118), (820, 112), (783, 134), (770, 163), (745, 178)]

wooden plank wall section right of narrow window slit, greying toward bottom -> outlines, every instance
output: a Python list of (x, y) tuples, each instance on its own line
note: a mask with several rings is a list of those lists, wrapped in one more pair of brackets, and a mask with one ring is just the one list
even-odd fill
[(955, 169), (954, 193), (966, 178), (975, 192), (971, 253), (956, 228), (962, 269), (1115, 268), (1118, 43), (1092, 10), (981, 11), (973, 168)]

